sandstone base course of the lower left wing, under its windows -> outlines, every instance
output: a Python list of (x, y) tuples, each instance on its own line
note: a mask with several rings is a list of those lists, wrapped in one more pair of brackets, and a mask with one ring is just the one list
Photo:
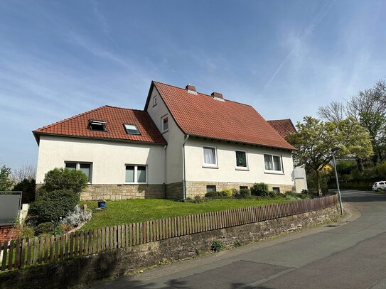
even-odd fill
[(162, 199), (163, 185), (88, 185), (80, 195), (82, 201)]

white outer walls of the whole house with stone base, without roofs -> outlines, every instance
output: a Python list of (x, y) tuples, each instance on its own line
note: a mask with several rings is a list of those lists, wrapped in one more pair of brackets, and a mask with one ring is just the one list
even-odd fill
[[(148, 101), (146, 111), (165, 138), (166, 146), (134, 141), (109, 141), (40, 134), (36, 182), (42, 183), (45, 173), (49, 170), (63, 168), (66, 163), (71, 162), (91, 164), (90, 183), (96, 185), (95, 190), (98, 192), (103, 193), (104, 190), (114, 190), (115, 192), (118, 189), (117, 187), (98, 187), (97, 185), (119, 186), (120, 191), (115, 196), (117, 199), (120, 199), (119, 194), (123, 191), (124, 194), (129, 194), (128, 190), (131, 190), (130, 192), (134, 197), (138, 196), (136, 194), (138, 190), (153, 192), (153, 195), (150, 194), (151, 197), (156, 194), (161, 197), (168, 197), (168, 190), (170, 192), (173, 190), (171, 195), (181, 198), (184, 175), (185, 181), (189, 182), (190, 185), (193, 184), (193, 187), (194, 183), (200, 183), (198, 189), (197, 186), (195, 187), (195, 189), (200, 190), (198, 192), (200, 195), (205, 194), (206, 185), (210, 185), (211, 182), (223, 183), (222, 187), (230, 183), (250, 185), (254, 182), (265, 182), (275, 186), (282, 185), (285, 190), (294, 187), (294, 185), (299, 185), (299, 188), (304, 187), (301, 178), (295, 178), (291, 151), (186, 136), (174, 121), (155, 86)], [(184, 143), (185, 148), (183, 150)], [(205, 165), (204, 147), (214, 148), (215, 165)], [(245, 152), (246, 168), (237, 167), (236, 151)], [(280, 170), (267, 170), (264, 155), (272, 156), (272, 160), (274, 158), (279, 160)], [(135, 172), (139, 166), (142, 168), (145, 166), (146, 182), (127, 183), (127, 165), (135, 167)], [(144, 188), (143, 186), (139, 187), (140, 185), (161, 186)], [(91, 189), (89, 191), (90, 194), (93, 193)]]

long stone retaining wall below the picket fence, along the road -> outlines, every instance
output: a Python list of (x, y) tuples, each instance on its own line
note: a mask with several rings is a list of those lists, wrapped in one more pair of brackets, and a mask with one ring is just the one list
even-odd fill
[[(327, 222), (338, 215), (338, 206), (333, 206), (316, 212), (179, 236), (124, 249), (108, 250), (46, 266), (1, 273), (0, 288), (73, 287), (103, 278), (132, 273), (161, 262), (194, 257), (210, 251), (210, 246), (216, 240), (222, 241), (226, 247), (234, 246), (236, 241), (248, 244), (299, 228), (313, 227), (315, 224)], [(126, 282), (127, 288), (141, 287), (135, 280)]]

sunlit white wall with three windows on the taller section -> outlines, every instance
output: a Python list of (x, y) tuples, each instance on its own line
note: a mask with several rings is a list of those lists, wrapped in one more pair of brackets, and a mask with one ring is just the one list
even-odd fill
[[(205, 167), (203, 146), (215, 147), (218, 165)], [(235, 151), (245, 151), (247, 168), (236, 167)], [(264, 167), (264, 154), (280, 156), (281, 172), (268, 172)], [(265, 182), (268, 184), (294, 185), (294, 165), (290, 151), (237, 145), (227, 141), (210, 141), (191, 137), (186, 143), (186, 181), (196, 182)]]

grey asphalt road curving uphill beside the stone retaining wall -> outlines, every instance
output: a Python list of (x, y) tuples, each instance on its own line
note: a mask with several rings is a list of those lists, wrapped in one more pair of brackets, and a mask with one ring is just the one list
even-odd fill
[(343, 203), (335, 224), (86, 288), (386, 288), (386, 194), (346, 191)]

